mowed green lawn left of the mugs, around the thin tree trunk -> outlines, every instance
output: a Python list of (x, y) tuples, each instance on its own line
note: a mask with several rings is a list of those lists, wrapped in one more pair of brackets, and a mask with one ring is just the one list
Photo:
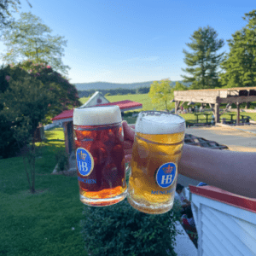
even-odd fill
[(56, 150), (64, 148), (63, 129), (45, 135), (36, 160), (37, 194), (29, 192), (21, 157), (0, 160), (0, 255), (87, 255), (78, 179), (50, 174)]

